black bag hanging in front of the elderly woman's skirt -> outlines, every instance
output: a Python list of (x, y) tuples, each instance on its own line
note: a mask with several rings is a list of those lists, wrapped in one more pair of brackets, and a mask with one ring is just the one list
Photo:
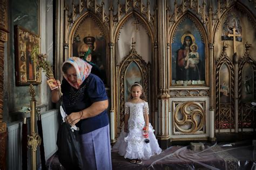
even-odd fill
[(82, 169), (83, 161), (80, 144), (77, 141), (78, 132), (73, 132), (70, 125), (63, 122), (57, 134), (58, 158), (66, 169)]

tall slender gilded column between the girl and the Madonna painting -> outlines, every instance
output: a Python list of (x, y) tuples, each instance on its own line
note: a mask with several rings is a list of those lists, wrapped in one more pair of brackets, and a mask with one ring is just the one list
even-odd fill
[(158, 10), (158, 132), (157, 139), (161, 148), (170, 145), (169, 135), (169, 87), (168, 87), (168, 59), (167, 59), (167, 27), (166, 27), (166, 1), (157, 1)]

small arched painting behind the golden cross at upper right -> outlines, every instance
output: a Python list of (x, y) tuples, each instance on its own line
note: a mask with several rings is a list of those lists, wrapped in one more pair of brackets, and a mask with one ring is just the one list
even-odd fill
[(228, 13), (221, 27), (221, 40), (235, 40), (242, 42), (242, 27), (235, 12)]

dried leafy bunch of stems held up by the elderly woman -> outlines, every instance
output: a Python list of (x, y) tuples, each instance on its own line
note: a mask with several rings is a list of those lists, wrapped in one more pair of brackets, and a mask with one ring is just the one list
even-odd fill
[(43, 72), (45, 72), (45, 76), (49, 79), (54, 78), (53, 72), (52, 72), (52, 67), (48, 60), (46, 60), (47, 55), (39, 53), (39, 46), (35, 45), (32, 50), (32, 59), (36, 63), (36, 66), (38, 68), (43, 69)]

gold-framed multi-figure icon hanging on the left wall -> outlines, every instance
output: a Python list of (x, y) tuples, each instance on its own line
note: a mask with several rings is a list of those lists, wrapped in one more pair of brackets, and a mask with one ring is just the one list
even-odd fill
[(36, 67), (40, 38), (19, 25), (15, 25), (15, 76), (16, 85), (41, 84), (41, 69)]

